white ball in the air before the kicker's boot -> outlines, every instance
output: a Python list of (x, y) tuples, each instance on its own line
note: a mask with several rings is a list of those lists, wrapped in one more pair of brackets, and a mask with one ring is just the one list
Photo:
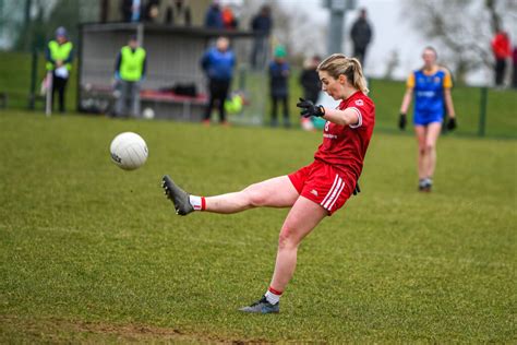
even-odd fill
[(124, 132), (115, 136), (109, 146), (111, 160), (124, 170), (134, 170), (147, 160), (145, 141), (136, 133)]

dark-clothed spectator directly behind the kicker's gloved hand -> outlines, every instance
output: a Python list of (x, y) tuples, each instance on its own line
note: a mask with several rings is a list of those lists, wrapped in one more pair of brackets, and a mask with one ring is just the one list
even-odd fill
[[(303, 71), (300, 74), (300, 84), (303, 88), (303, 98), (317, 103), (320, 98), (320, 91), (322, 90), (322, 82), (320, 81), (320, 74), (317, 73), (317, 66), (321, 62), (318, 56), (308, 59), (303, 63)], [(314, 128), (323, 129), (325, 121), (320, 118), (301, 118), (302, 128), (305, 130), (313, 130)], [(317, 124), (317, 126), (316, 126)]]

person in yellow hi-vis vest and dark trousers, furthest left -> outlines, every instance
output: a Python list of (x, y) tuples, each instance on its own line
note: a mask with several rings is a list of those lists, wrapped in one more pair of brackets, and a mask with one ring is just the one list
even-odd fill
[(68, 39), (67, 29), (62, 26), (56, 31), (56, 40), (50, 40), (47, 46), (47, 71), (52, 72), (52, 97), (51, 108), (53, 109), (55, 94), (59, 94), (59, 111), (64, 112), (64, 93), (67, 82), (72, 70), (73, 45)]

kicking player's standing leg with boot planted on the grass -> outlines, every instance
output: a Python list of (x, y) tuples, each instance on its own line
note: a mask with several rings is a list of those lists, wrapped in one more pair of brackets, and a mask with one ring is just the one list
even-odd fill
[(268, 290), (258, 301), (241, 308), (243, 312), (279, 312), (279, 299), (294, 274), (298, 246), (314, 227), (327, 215), (320, 204), (304, 198), (298, 198), (280, 230), (275, 272)]

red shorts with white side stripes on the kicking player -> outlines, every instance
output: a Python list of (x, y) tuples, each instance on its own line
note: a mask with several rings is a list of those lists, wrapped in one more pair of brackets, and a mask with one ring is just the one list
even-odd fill
[(320, 160), (288, 176), (300, 195), (322, 205), (328, 215), (341, 209), (356, 188), (351, 177)]

